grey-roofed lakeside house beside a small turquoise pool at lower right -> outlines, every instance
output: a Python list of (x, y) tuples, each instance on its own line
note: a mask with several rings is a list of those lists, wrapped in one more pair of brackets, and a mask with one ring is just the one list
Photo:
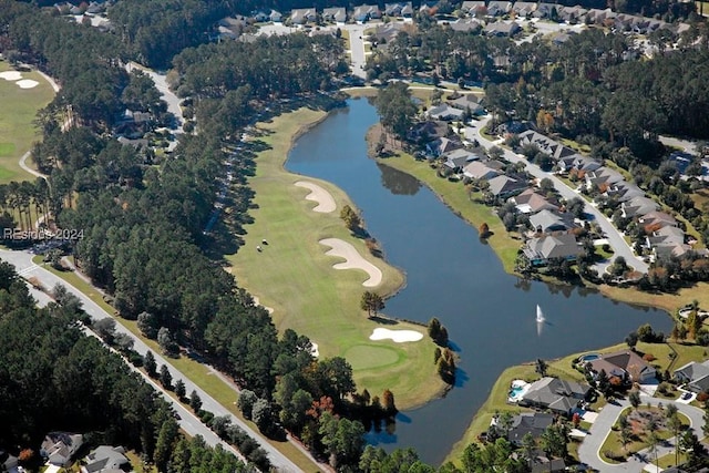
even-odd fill
[(587, 398), (589, 392), (588, 384), (546, 377), (533, 382), (518, 404), (571, 415), (572, 411)]

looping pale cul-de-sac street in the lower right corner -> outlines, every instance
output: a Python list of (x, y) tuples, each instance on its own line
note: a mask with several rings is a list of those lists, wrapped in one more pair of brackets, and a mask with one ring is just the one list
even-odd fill
[[(687, 415), (691, 422), (691, 430), (695, 434), (701, 439), (703, 433), (701, 431), (701, 425), (703, 425), (703, 411), (701, 409), (695, 408), (693, 405), (688, 405), (681, 402), (668, 401), (667, 399), (657, 399), (651, 398), (646, 394), (640, 394), (643, 404), (651, 404), (657, 405), (661, 403), (662, 405), (667, 405), (672, 403), (677, 407), (677, 410), (682, 414)], [(655, 453), (650, 453), (647, 449), (639, 451), (636, 455), (628, 459), (627, 462), (620, 464), (612, 464), (606, 463), (600, 459), (599, 450), (603, 443), (605, 442), (608, 433), (610, 432), (610, 428), (620, 415), (620, 412), (628, 408), (630, 402), (627, 400), (619, 400), (617, 404), (606, 404), (598, 412), (598, 418), (592, 424), (588, 435), (584, 439), (580, 446), (578, 448), (578, 459), (588, 464), (589, 466), (600, 471), (600, 472), (633, 472), (638, 473), (645, 470), (645, 466), (648, 465), (650, 461), (655, 459)], [(675, 441), (676, 439), (669, 439), (664, 442), (657, 449), (657, 457), (661, 457), (667, 455), (668, 453), (675, 453)]]

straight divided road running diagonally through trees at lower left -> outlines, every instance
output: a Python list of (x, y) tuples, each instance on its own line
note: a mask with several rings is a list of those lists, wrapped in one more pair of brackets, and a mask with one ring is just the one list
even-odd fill
[[(63, 279), (59, 278), (58, 276), (53, 275), (52, 273), (48, 271), (47, 269), (43, 269), (43, 268), (37, 266), (35, 264), (33, 264), (32, 263), (32, 256), (33, 255), (28, 253), (28, 251), (10, 251), (10, 250), (0, 249), (0, 259), (3, 259), (6, 261), (14, 265), (17, 271), (20, 273), (24, 278), (35, 277), (48, 289), (51, 289), (56, 284), (62, 284), (64, 287), (66, 287), (66, 289), (70, 292), (74, 294), (81, 300), (81, 302), (83, 305), (83, 309), (94, 320), (100, 320), (100, 319), (104, 319), (106, 317), (112, 317), (105, 310), (103, 310), (101, 307), (99, 307), (95, 302), (93, 302), (91, 299), (89, 299), (79, 289), (76, 289), (73, 286), (69, 285)], [(138, 353), (145, 354), (150, 350), (150, 348), (140, 338), (135, 337), (131, 331), (129, 331), (121, 323), (116, 323), (116, 332), (125, 333), (129, 337), (131, 337), (134, 340), (134, 347), (133, 348)], [(254, 430), (251, 430), (250, 426), (248, 426), (242, 420), (239, 420), (238, 418), (233, 415), (222, 404), (219, 404), (216, 400), (214, 400), (214, 398), (212, 398), (209, 394), (204, 392), (199, 387), (194, 384), (189, 379), (187, 379), (179, 371), (177, 371), (160, 353), (153, 351), (153, 354), (155, 356), (155, 362), (158, 366), (165, 364), (169, 369), (169, 372), (171, 372), (174, 381), (176, 381), (178, 379), (182, 379), (184, 381), (185, 388), (186, 388), (186, 392), (192, 392), (194, 390), (199, 394), (199, 398), (202, 399), (202, 403), (203, 403), (203, 409), (213, 412), (215, 415), (226, 415), (226, 417), (228, 417), (229, 419), (232, 419), (232, 423), (233, 424), (236, 424), (236, 425), (240, 426), (245, 432), (247, 432), (249, 434), (249, 436), (251, 436), (254, 440), (256, 440), (259, 443), (259, 445), (266, 451), (266, 453), (268, 454), (268, 459), (270, 460), (271, 464), (278, 471), (280, 471), (280, 472), (298, 472), (298, 471), (300, 471), (300, 469), (298, 469), (298, 466), (295, 463), (292, 463), (282, 453), (280, 453), (278, 450), (276, 450), (274, 446), (271, 446), (268, 442), (266, 442), (264, 440), (264, 438), (260, 435), (260, 433), (255, 432)], [(156, 385), (154, 382), (153, 382), (153, 385), (155, 385), (158, 389), (160, 392), (163, 392), (162, 389), (160, 389), (161, 388), (160, 385)], [(234, 399), (236, 401), (236, 394), (235, 394)], [(171, 398), (171, 400), (172, 400), (172, 398)], [(183, 421), (181, 421), (181, 424), (184, 424), (183, 426), (185, 426), (185, 430), (189, 434), (192, 434), (192, 435), (199, 434), (199, 435), (204, 436), (205, 440), (210, 439), (212, 440), (210, 444), (219, 443), (225, 449), (228, 449), (229, 451), (234, 452), (234, 449), (232, 449), (230, 446), (226, 445), (222, 440), (216, 438), (214, 432), (212, 432), (207, 426), (202, 424), (202, 422), (196, 420), (194, 418), (194, 415), (191, 414), (191, 411), (187, 411), (182, 405), (177, 405), (177, 404), (179, 404), (177, 402), (173, 402), (173, 404), (176, 405), (176, 408), (175, 408), (176, 411), (183, 418)]]

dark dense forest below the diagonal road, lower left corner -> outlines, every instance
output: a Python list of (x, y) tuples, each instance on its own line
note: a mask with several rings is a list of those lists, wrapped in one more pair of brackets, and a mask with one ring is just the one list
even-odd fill
[(35, 307), (25, 282), (0, 261), (0, 445), (37, 467), (51, 431), (79, 432), (91, 445), (122, 445), (171, 472), (235, 472), (245, 465), (178, 432), (172, 408), (119, 354), (82, 332), (71, 294)]

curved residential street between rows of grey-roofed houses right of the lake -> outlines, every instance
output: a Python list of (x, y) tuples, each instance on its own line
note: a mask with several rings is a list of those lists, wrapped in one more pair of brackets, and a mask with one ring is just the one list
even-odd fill
[[(485, 148), (489, 148), (495, 145), (495, 143), (485, 138), (480, 133), (480, 131), (487, 125), (489, 121), (490, 121), (490, 117), (486, 117), (479, 122), (475, 122), (475, 126), (466, 127), (464, 132), (465, 137), (471, 141), (477, 140), (477, 142)], [(512, 163), (524, 163), (526, 165), (526, 171), (533, 176), (538, 178), (548, 177), (549, 179), (552, 179), (552, 182), (554, 183), (554, 187), (556, 187), (558, 193), (565, 199), (579, 197), (579, 195), (574, 189), (568, 187), (564, 182), (562, 182), (558, 177), (556, 177), (552, 173), (542, 171), (538, 166), (527, 162), (524, 157), (518, 156), (517, 154), (513, 153), (510, 150), (503, 148), (503, 151), (504, 151), (504, 156), (507, 161)], [(586, 214), (590, 214), (593, 216), (595, 222), (598, 224), (598, 226), (605, 234), (606, 238), (608, 239), (608, 243), (610, 244), (610, 246), (615, 251), (613, 257), (614, 259), (618, 256), (623, 256), (626, 263), (629, 266), (634, 267), (637, 271), (647, 273), (648, 265), (635, 255), (630, 246), (623, 238), (623, 235), (618, 232), (618, 229), (610, 223), (610, 220), (608, 220), (608, 218), (600, 210), (598, 210), (596, 207), (586, 203), (585, 212)]]

